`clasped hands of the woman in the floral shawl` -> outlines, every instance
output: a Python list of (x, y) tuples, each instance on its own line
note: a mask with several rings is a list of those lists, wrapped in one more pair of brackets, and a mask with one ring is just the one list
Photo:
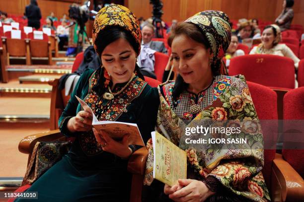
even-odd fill
[(174, 202), (204, 202), (215, 194), (202, 181), (179, 179), (178, 183), (185, 187), (169, 195), (169, 198)]

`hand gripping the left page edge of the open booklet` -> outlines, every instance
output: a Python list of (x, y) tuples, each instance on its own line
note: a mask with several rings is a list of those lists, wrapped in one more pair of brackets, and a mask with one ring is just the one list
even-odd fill
[(86, 111), (79, 111), (75, 117), (69, 120), (67, 127), (72, 133), (92, 130), (92, 114)]

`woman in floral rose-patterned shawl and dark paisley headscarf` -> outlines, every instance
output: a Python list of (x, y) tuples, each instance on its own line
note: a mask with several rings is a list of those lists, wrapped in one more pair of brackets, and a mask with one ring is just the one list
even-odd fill
[[(160, 105), (157, 131), (187, 153), (187, 179), (169, 187), (153, 180), (153, 147), (147, 144), (143, 201), (247, 202), (270, 200), (261, 170), (264, 164), (263, 136), (243, 76), (227, 76), (223, 56), (231, 27), (222, 11), (203, 11), (176, 26), (170, 40), (174, 82), (158, 86)], [(266, 98), (265, 98), (266, 99)], [(247, 143), (208, 144), (198, 138), (224, 138), (216, 132), (186, 135), (187, 128), (239, 127)], [(189, 132), (189, 131), (188, 131)], [(224, 135), (224, 136), (223, 136)], [(187, 140), (188, 139), (188, 140)], [(153, 182), (153, 183), (152, 183)], [(159, 192), (161, 192), (159, 194)]]

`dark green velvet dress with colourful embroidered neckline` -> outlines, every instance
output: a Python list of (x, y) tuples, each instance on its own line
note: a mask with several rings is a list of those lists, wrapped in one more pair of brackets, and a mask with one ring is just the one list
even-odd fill
[[(127, 172), (128, 160), (103, 151), (92, 132), (70, 133), (67, 123), (81, 110), (77, 95), (87, 102), (99, 120), (136, 123), (146, 143), (156, 124), (158, 92), (136, 76), (130, 87), (107, 102), (92, 92), (97, 79), (93, 70), (86, 70), (81, 75), (59, 120), (61, 132), (76, 139), (69, 153), (27, 190), (38, 192), (38, 200), (33, 201), (129, 202), (132, 174)], [(124, 85), (116, 85), (113, 92)]]

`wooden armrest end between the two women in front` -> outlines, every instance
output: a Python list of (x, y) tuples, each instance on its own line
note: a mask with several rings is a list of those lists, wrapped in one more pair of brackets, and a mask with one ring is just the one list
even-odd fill
[(144, 175), (146, 162), (148, 158), (148, 149), (146, 146), (136, 150), (129, 159), (128, 171), (133, 174)]

